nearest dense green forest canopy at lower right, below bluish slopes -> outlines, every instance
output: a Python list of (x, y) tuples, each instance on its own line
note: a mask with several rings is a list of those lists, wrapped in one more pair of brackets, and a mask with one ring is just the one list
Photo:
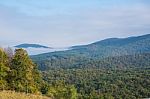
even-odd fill
[[(50, 84), (64, 80), (66, 85), (74, 85), (79, 99), (138, 99), (150, 97), (149, 68), (130, 70), (57, 69), (50, 70), (43, 75)], [(58, 88), (62, 91), (64, 87), (59, 86)], [(50, 89), (50, 93), (56, 92), (55, 87), (50, 87)]]

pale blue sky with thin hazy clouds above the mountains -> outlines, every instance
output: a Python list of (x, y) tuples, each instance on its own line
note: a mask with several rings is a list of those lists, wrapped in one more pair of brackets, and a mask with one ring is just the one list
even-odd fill
[(0, 45), (89, 44), (150, 33), (150, 0), (0, 0)]

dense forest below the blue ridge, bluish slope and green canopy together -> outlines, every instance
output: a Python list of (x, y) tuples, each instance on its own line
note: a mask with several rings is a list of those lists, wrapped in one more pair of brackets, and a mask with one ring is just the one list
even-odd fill
[(79, 99), (150, 97), (150, 53), (78, 61), (75, 65), (60, 59), (47, 63), (50, 67), (43, 71), (44, 80), (74, 85)]

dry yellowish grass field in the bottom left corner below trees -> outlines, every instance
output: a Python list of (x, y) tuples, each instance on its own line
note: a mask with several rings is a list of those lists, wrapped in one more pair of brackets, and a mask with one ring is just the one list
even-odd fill
[(51, 99), (41, 95), (17, 93), (13, 91), (0, 91), (0, 99)]

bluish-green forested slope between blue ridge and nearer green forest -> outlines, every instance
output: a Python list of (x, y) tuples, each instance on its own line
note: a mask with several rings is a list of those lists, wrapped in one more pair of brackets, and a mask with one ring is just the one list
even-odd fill
[(49, 59), (45, 61), (37, 60), (36, 63), (42, 71), (51, 69), (136, 69), (150, 68), (150, 53), (134, 54), (108, 57), (104, 59), (89, 58), (62, 58)]

